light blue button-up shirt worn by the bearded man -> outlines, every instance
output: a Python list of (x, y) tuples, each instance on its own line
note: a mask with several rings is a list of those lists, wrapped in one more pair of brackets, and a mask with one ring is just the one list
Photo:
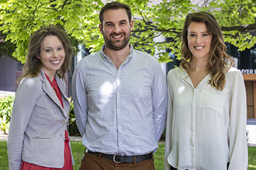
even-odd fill
[(74, 70), (74, 114), (82, 143), (104, 154), (154, 152), (167, 109), (161, 65), (130, 45), (130, 55), (117, 70), (104, 48), (81, 59)]

